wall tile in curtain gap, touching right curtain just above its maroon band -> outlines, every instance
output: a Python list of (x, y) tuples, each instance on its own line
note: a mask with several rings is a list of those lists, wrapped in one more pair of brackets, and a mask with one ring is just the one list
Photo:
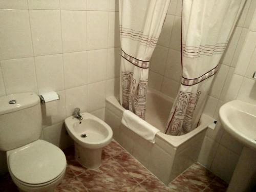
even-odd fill
[(164, 76), (180, 82), (182, 76), (180, 51), (169, 49)]

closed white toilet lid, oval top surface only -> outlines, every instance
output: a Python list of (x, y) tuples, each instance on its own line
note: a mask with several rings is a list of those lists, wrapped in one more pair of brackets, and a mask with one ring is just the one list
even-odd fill
[(13, 176), (28, 184), (42, 184), (58, 177), (66, 168), (66, 157), (57, 146), (37, 140), (8, 157)]

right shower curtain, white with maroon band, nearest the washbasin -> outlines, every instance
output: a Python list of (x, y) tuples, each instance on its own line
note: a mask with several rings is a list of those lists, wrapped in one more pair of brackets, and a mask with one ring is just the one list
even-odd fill
[(218, 63), (245, 0), (183, 0), (182, 79), (165, 133), (197, 127)]

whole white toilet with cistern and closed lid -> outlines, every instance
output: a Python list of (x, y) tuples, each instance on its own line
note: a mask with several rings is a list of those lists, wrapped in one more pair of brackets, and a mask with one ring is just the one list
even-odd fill
[(66, 171), (65, 154), (40, 140), (40, 99), (35, 93), (0, 97), (0, 151), (20, 191), (54, 191)]

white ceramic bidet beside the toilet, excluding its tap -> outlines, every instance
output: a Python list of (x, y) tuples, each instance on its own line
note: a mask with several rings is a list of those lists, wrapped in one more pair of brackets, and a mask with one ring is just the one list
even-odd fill
[(113, 136), (111, 127), (90, 113), (81, 113), (82, 120), (74, 116), (65, 119), (70, 137), (75, 141), (75, 158), (87, 168), (98, 168), (101, 164), (102, 147), (108, 145)]

